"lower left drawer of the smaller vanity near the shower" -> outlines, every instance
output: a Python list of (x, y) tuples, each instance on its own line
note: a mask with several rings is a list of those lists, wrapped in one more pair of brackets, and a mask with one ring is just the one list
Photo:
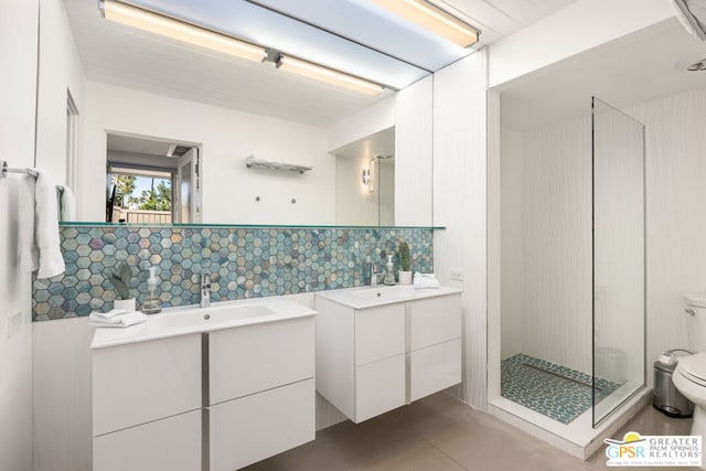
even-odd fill
[(355, 367), (359, 424), (405, 405), (405, 354)]

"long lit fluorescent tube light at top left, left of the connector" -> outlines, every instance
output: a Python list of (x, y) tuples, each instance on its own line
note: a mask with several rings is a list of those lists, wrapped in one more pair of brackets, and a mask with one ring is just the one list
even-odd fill
[(260, 62), (266, 56), (263, 47), (139, 7), (116, 0), (105, 0), (101, 6), (106, 19), (128, 26), (250, 61)]

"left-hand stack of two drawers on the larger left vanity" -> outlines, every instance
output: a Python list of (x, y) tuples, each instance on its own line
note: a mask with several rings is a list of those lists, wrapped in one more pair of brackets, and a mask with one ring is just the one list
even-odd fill
[(96, 471), (201, 468), (201, 334), (93, 351)]

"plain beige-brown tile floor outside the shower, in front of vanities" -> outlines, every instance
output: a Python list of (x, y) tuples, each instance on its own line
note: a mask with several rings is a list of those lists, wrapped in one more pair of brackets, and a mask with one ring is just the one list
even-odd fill
[[(645, 407), (613, 437), (688, 435), (691, 419)], [(581, 461), (439, 393), (363, 424), (344, 421), (312, 442), (260, 461), (247, 471), (579, 471), (608, 470), (605, 448)], [(666, 468), (640, 468), (648, 471)], [(689, 468), (681, 468), (687, 470)]]

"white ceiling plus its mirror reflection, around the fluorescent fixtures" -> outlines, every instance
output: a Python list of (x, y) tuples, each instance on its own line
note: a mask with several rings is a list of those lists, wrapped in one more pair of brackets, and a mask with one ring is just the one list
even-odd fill
[[(366, 0), (132, 0), (191, 22), (402, 88), (469, 54)], [(576, 0), (435, 0), (491, 44)], [(362, 96), (100, 18), (65, 0), (89, 81), (330, 127), (392, 95)], [(259, 4), (256, 4), (259, 3)], [(335, 8), (332, 8), (332, 4)], [(279, 12), (278, 12), (279, 11)], [(298, 21), (301, 20), (301, 21)], [(234, 31), (238, 28), (237, 31)], [(332, 34), (333, 33), (333, 34)]]

